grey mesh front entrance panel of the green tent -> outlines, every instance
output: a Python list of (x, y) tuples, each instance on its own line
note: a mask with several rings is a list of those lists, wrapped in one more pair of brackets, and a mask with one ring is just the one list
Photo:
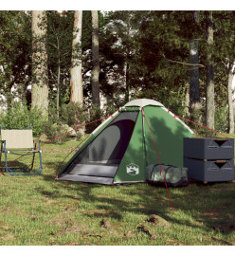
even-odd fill
[[(66, 174), (114, 176), (132, 137), (138, 112), (121, 112), (67, 169)], [(92, 167), (93, 166), (93, 167)], [(104, 167), (107, 168), (104, 168)], [(110, 168), (108, 168), (108, 166)]]

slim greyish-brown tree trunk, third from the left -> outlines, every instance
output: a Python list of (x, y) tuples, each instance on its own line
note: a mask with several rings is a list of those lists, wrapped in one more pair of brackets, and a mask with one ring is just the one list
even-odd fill
[(98, 108), (99, 101), (99, 15), (98, 10), (91, 10), (92, 16), (92, 101)]

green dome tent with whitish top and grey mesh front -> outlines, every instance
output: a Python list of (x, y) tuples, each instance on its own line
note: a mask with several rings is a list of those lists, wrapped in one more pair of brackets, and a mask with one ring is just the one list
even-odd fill
[(190, 128), (160, 102), (130, 101), (99, 125), (57, 179), (101, 184), (145, 182), (146, 167), (159, 160), (183, 167), (183, 137), (192, 136)]

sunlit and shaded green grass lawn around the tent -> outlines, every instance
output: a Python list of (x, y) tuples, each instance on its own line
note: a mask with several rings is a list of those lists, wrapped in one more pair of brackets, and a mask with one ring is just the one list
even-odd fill
[[(235, 245), (235, 183), (170, 188), (172, 213), (164, 187), (56, 181), (78, 143), (46, 144), (43, 174), (0, 174), (0, 245)], [(151, 214), (171, 227), (146, 222)]]

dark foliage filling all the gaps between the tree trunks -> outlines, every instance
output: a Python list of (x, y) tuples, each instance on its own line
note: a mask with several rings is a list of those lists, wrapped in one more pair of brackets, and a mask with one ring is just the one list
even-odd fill
[[(214, 11), (213, 17), (215, 105), (218, 110), (215, 122), (216, 129), (226, 131), (226, 115), (223, 113), (227, 107), (227, 72), (235, 60), (235, 16), (234, 11), (228, 10)], [(0, 93), (9, 106), (16, 96), (21, 101), (29, 100), (28, 106), (30, 103), (27, 90), (31, 82), (30, 19), (30, 11), (0, 11)], [(73, 19), (73, 11), (47, 11), (51, 111), (57, 94), (60, 111), (68, 113), (70, 108), (68, 105), (63, 111), (70, 94)], [(91, 101), (91, 34), (91, 11), (84, 10), (80, 58), (87, 120), (96, 119), (98, 114), (92, 109)], [(207, 60), (205, 11), (200, 11), (198, 23), (193, 18), (193, 11), (99, 11), (99, 83), (106, 102), (101, 117), (136, 98), (161, 101), (175, 114), (184, 116), (185, 89), (191, 68), (188, 65), (190, 40), (195, 38), (199, 42), (200, 115), (203, 122), (207, 78), (204, 67)], [(4, 101), (1, 100), (2, 105)], [(76, 122), (63, 113), (57, 118), (58, 111), (57, 115), (51, 116), (51, 122), (61, 121), (69, 125)]]

